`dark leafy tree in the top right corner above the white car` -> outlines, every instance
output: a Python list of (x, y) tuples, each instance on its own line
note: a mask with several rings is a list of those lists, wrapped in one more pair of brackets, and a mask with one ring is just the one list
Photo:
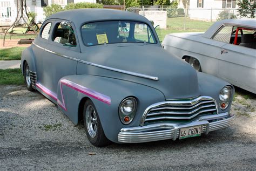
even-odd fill
[(248, 0), (238, 1), (238, 13), (240, 17), (255, 18), (256, 2)]

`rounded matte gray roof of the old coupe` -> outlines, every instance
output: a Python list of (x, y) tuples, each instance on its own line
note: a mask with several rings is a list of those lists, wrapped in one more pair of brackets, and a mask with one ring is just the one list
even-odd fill
[(54, 13), (48, 19), (70, 20), (76, 25), (99, 20), (137, 20), (149, 24), (149, 20), (134, 12), (112, 9), (75, 9)]

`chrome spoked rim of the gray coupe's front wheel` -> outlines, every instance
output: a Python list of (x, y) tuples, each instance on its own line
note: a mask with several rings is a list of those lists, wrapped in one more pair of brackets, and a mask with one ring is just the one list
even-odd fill
[(88, 105), (85, 110), (86, 127), (91, 138), (95, 138), (97, 133), (97, 115), (92, 105)]

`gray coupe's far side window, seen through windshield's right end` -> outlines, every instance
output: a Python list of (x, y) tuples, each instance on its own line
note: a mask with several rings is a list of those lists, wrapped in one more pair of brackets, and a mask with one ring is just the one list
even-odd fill
[(154, 36), (152, 36), (151, 29), (146, 24), (136, 23), (134, 27), (134, 38), (140, 42), (156, 43)]

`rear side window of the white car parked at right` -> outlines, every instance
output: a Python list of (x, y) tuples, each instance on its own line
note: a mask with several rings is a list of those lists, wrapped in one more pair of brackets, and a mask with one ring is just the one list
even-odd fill
[(224, 26), (214, 37), (213, 40), (230, 43), (233, 26)]

